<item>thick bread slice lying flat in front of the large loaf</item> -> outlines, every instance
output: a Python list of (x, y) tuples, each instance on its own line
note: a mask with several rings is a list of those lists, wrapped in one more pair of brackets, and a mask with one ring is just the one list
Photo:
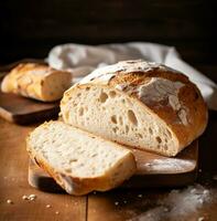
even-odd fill
[(26, 147), (31, 158), (69, 194), (110, 190), (135, 172), (129, 149), (62, 122), (37, 127)]

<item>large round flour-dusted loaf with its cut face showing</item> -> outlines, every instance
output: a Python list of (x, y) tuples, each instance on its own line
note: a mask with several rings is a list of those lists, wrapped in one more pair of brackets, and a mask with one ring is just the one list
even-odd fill
[(175, 156), (205, 130), (207, 107), (187, 76), (141, 60), (100, 67), (64, 93), (65, 123), (127, 146)]

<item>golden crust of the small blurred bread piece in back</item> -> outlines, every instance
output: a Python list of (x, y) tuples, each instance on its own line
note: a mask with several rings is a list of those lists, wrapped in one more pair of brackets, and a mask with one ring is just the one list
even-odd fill
[(65, 90), (70, 86), (70, 73), (54, 70), (44, 64), (36, 63), (23, 63), (15, 66), (3, 78), (1, 84), (1, 91), (4, 93), (14, 93), (25, 97), (40, 99), (43, 102), (52, 102), (59, 99), (57, 96), (47, 96), (44, 92), (44, 85), (47, 77), (52, 75), (59, 75), (59, 78), (64, 75), (67, 78), (66, 84), (63, 85)]

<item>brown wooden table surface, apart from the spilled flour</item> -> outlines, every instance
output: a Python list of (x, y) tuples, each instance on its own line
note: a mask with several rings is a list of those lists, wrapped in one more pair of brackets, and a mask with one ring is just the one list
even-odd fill
[[(28, 183), (28, 154), (25, 137), (36, 125), (18, 126), (0, 119), (0, 220), (142, 220), (137, 217), (158, 208), (159, 199), (164, 199), (171, 189), (117, 189), (105, 193), (91, 193), (85, 197), (72, 197), (42, 192)], [(200, 138), (202, 172), (200, 183), (215, 186), (211, 176), (217, 173), (217, 148), (215, 140), (217, 116), (210, 113), (209, 126)], [(207, 186), (207, 183), (206, 183)], [(215, 187), (214, 187), (215, 188)], [(216, 188), (217, 191), (217, 188)], [(23, 200), (24, 194), (34, 193), (34, 201)], [(12, 200), (12, 204), (7, 200)], [(51, 204), (51, 208), (47, 208)], [(214, 201), (205, 210), (198, 210), (187, 220), (197, 220), (200, 215), (217, 220), (217, 203)]]

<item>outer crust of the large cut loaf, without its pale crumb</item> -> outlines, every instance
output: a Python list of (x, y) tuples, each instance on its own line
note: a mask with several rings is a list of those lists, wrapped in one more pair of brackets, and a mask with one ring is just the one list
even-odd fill
[[(129, 62), (133, 64), (140, 63), (141, 61)], [(100, 74), (99, 69), (97, 75), (94, 74), (94, 77), (89, 76), (87, 81), (82, 81), (70, 87), (67, 92), (65, 92), (61, 102), (63, 116), (64, 106), (67, 105), (70, 94), (79, 91), (82, 87), (99, 86), (101, 88), (107, 87), (116, 91), (118, 90), (119, 92), (127, 94), (129, 97), (139, 102), (143, 108), (148, 108), (152, 114), (156, 115), (159, 119), (163, 120), (167, 125), (170, 131), (175, 135), (178, 140), (177, 151), (174, 155), (180, 152), (184, 147), (188, 146), (194, 139), (203, 134), (208, 119), (207, 106), (199, 90), (188, 80), (187, 76), (161, 64), (151, 65), (151, 69), (145, 70), (129, 70), (129, 72), (128, 69), (120, 69), (120, 71), (116, 72), (102, 71), (102, 74)], [(172, 85), (181, 85), (176, 94), (180, 102), (180, 108), (175, 109), (173, 105), (171, 106), (169, 104), (169, 97), (151, 102), (150, 99), (143, 99), (139, 90), (141, 90), (143, 85), (149, 85), (152, 80), (161, 80), (164, 82), (170, 81)], [(183, 120), (181, 120), (181, 117), (183, 117)], [(66, 118), (65, 120), (67, 122)]]

